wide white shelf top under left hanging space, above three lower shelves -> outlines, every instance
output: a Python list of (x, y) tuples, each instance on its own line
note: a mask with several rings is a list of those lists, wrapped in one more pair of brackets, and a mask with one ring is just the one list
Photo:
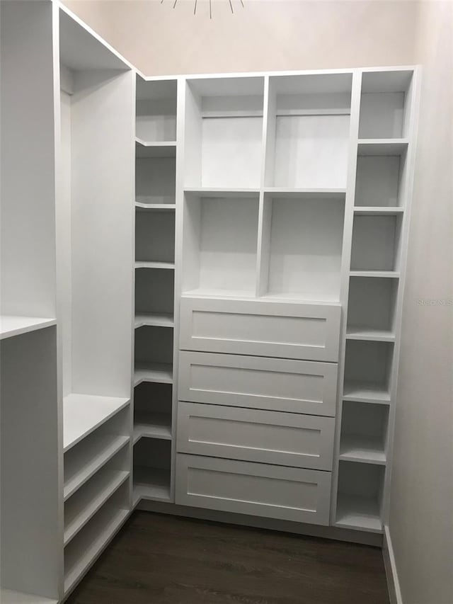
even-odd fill
[(69, 394), (63, 399), (63, 450), (66, 452), (82, 438), (124, 409), (130, 399)]

